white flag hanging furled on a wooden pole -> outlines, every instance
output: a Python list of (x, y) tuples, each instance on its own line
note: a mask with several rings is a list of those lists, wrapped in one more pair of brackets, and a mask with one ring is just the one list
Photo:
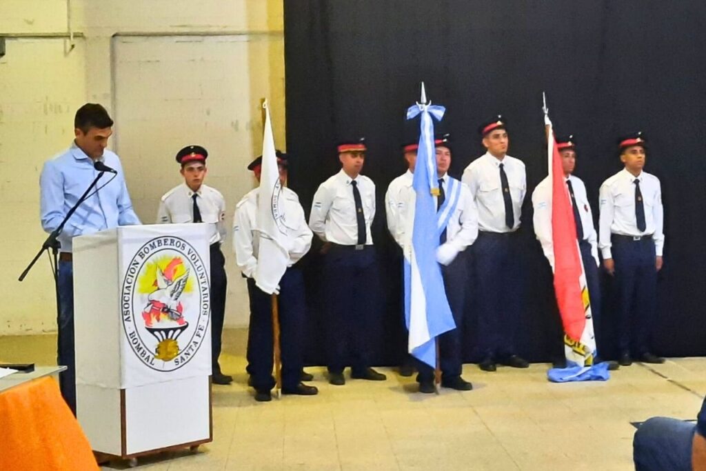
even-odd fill
[(277, 167), (275, 138), (270, 123), (270, 110), (265, 107), (265, 136), (263, 136), (263, 162), (258, 191), (256, 230), (260, 233), (258, 268), (255, 282), (268, 294), (279, 292), (280, 280), (289, 262), (289, 234), (285, 226), (285, 201), (282, 182)]

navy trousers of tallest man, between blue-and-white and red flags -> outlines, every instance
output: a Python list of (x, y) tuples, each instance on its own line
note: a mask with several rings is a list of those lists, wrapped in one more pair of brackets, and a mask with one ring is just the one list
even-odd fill
[(482, 357), (515, 354), (515, 329), (520, 316), (522, 278), (520, 239), (516, 232), (484, 232), (471, 246), (477, 278), (478, 344)]

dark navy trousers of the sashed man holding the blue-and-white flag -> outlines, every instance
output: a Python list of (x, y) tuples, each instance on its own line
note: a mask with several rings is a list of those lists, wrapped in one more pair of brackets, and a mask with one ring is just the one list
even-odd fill
[[(441, 366), (441, 374), (446, 380), (461, 376), (461, 339), (465, 293), (468, 290), (468, 255), (469, 251), (466, 249), (460, 252), (448, 266), (441, 266), (446, 298), (451, 308), (451, 314), (453, 314), (453, 321), (456, 323), (455, 329), (449, 330), (438, 337), (439, 366)], [(434, 370), (431, 366), (423, 362), (417, 362), (417, 368), (419, 370), (417, 381), (420, 383), (433, 381)]]

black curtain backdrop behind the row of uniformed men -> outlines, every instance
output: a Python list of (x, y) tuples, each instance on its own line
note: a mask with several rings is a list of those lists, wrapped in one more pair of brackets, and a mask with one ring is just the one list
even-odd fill
[[(371, 326), (376, 364), (395, 364), (405, 348), (400, 255), (385, 228), (384, 194), (405, 172), (400, 143), (405, 110), (426, 83), (444, 105), (453, 136), (451, 174), (484, 153), (477, 126), (503, 114), (510, 155), (527, 165), (527, 201), (546, 175), (542, 90), (556, 131), (578, 140), (575, 174), (594, 216), (602, 181), (621, 169), (616, 138), (642, 130), (647, 172), (662, 181), (664, 269), (654, 326), (657, 353), (706, 354), (706, 4), (702, 1), (285, 1), (287, 144), (290, 186), (307, 215), (313, 193), (340, 169), (337, 136), (359, 133), (369, 151), (364, 174), (377, 186), (373, 239), (383, 282), (379, 323)], [(531, 204), (522, 238), (525, 309), (517, 347), (533, 361), (561, 352), (551, 271), (534, 239)], [(311, 308), (306, 360), (325, 362), (318, 255), (303, 261)], [(604, 276), (597, 326), (603, 354), (614, 354), (611, 280)], [(472, 289), (469, 296), (481, 294)], [(474, 309), (465, 329), (473, 358)]]

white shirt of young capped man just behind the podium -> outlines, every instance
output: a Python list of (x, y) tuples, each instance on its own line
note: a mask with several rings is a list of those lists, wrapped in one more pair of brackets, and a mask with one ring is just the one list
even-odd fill
[[(225, 200), (223, 195), (215, 188), (201, 185), (196, 191), (196, 204), (201, 213), (201, 221), (208, 224), (209, 243), (224, 242), (225, 229)], [(157, 224), (182, 224), (193, 222), (193, 191), (186, 183), (172, 188), (164, 193), (157, 211)]]

